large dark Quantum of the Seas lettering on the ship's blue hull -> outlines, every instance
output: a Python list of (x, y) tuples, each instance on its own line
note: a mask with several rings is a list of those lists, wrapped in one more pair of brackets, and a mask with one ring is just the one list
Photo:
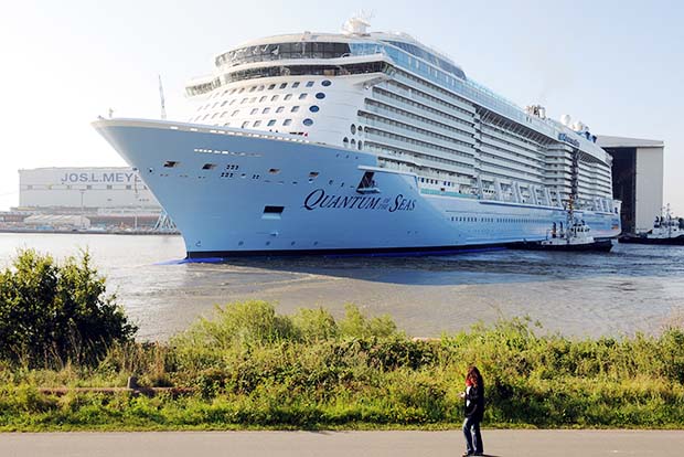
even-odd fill
[(394, 201), (383, 196), (361, 196), (361, 195), (334, 195), (327, 194), (323, 189), (317, 189), (309, 193), (304, 199), (303, 206), (308, 211), (316, 209), (348, 209), (348, 210), (387, 210), (413, 211), (416, 201), (397, 195)]

